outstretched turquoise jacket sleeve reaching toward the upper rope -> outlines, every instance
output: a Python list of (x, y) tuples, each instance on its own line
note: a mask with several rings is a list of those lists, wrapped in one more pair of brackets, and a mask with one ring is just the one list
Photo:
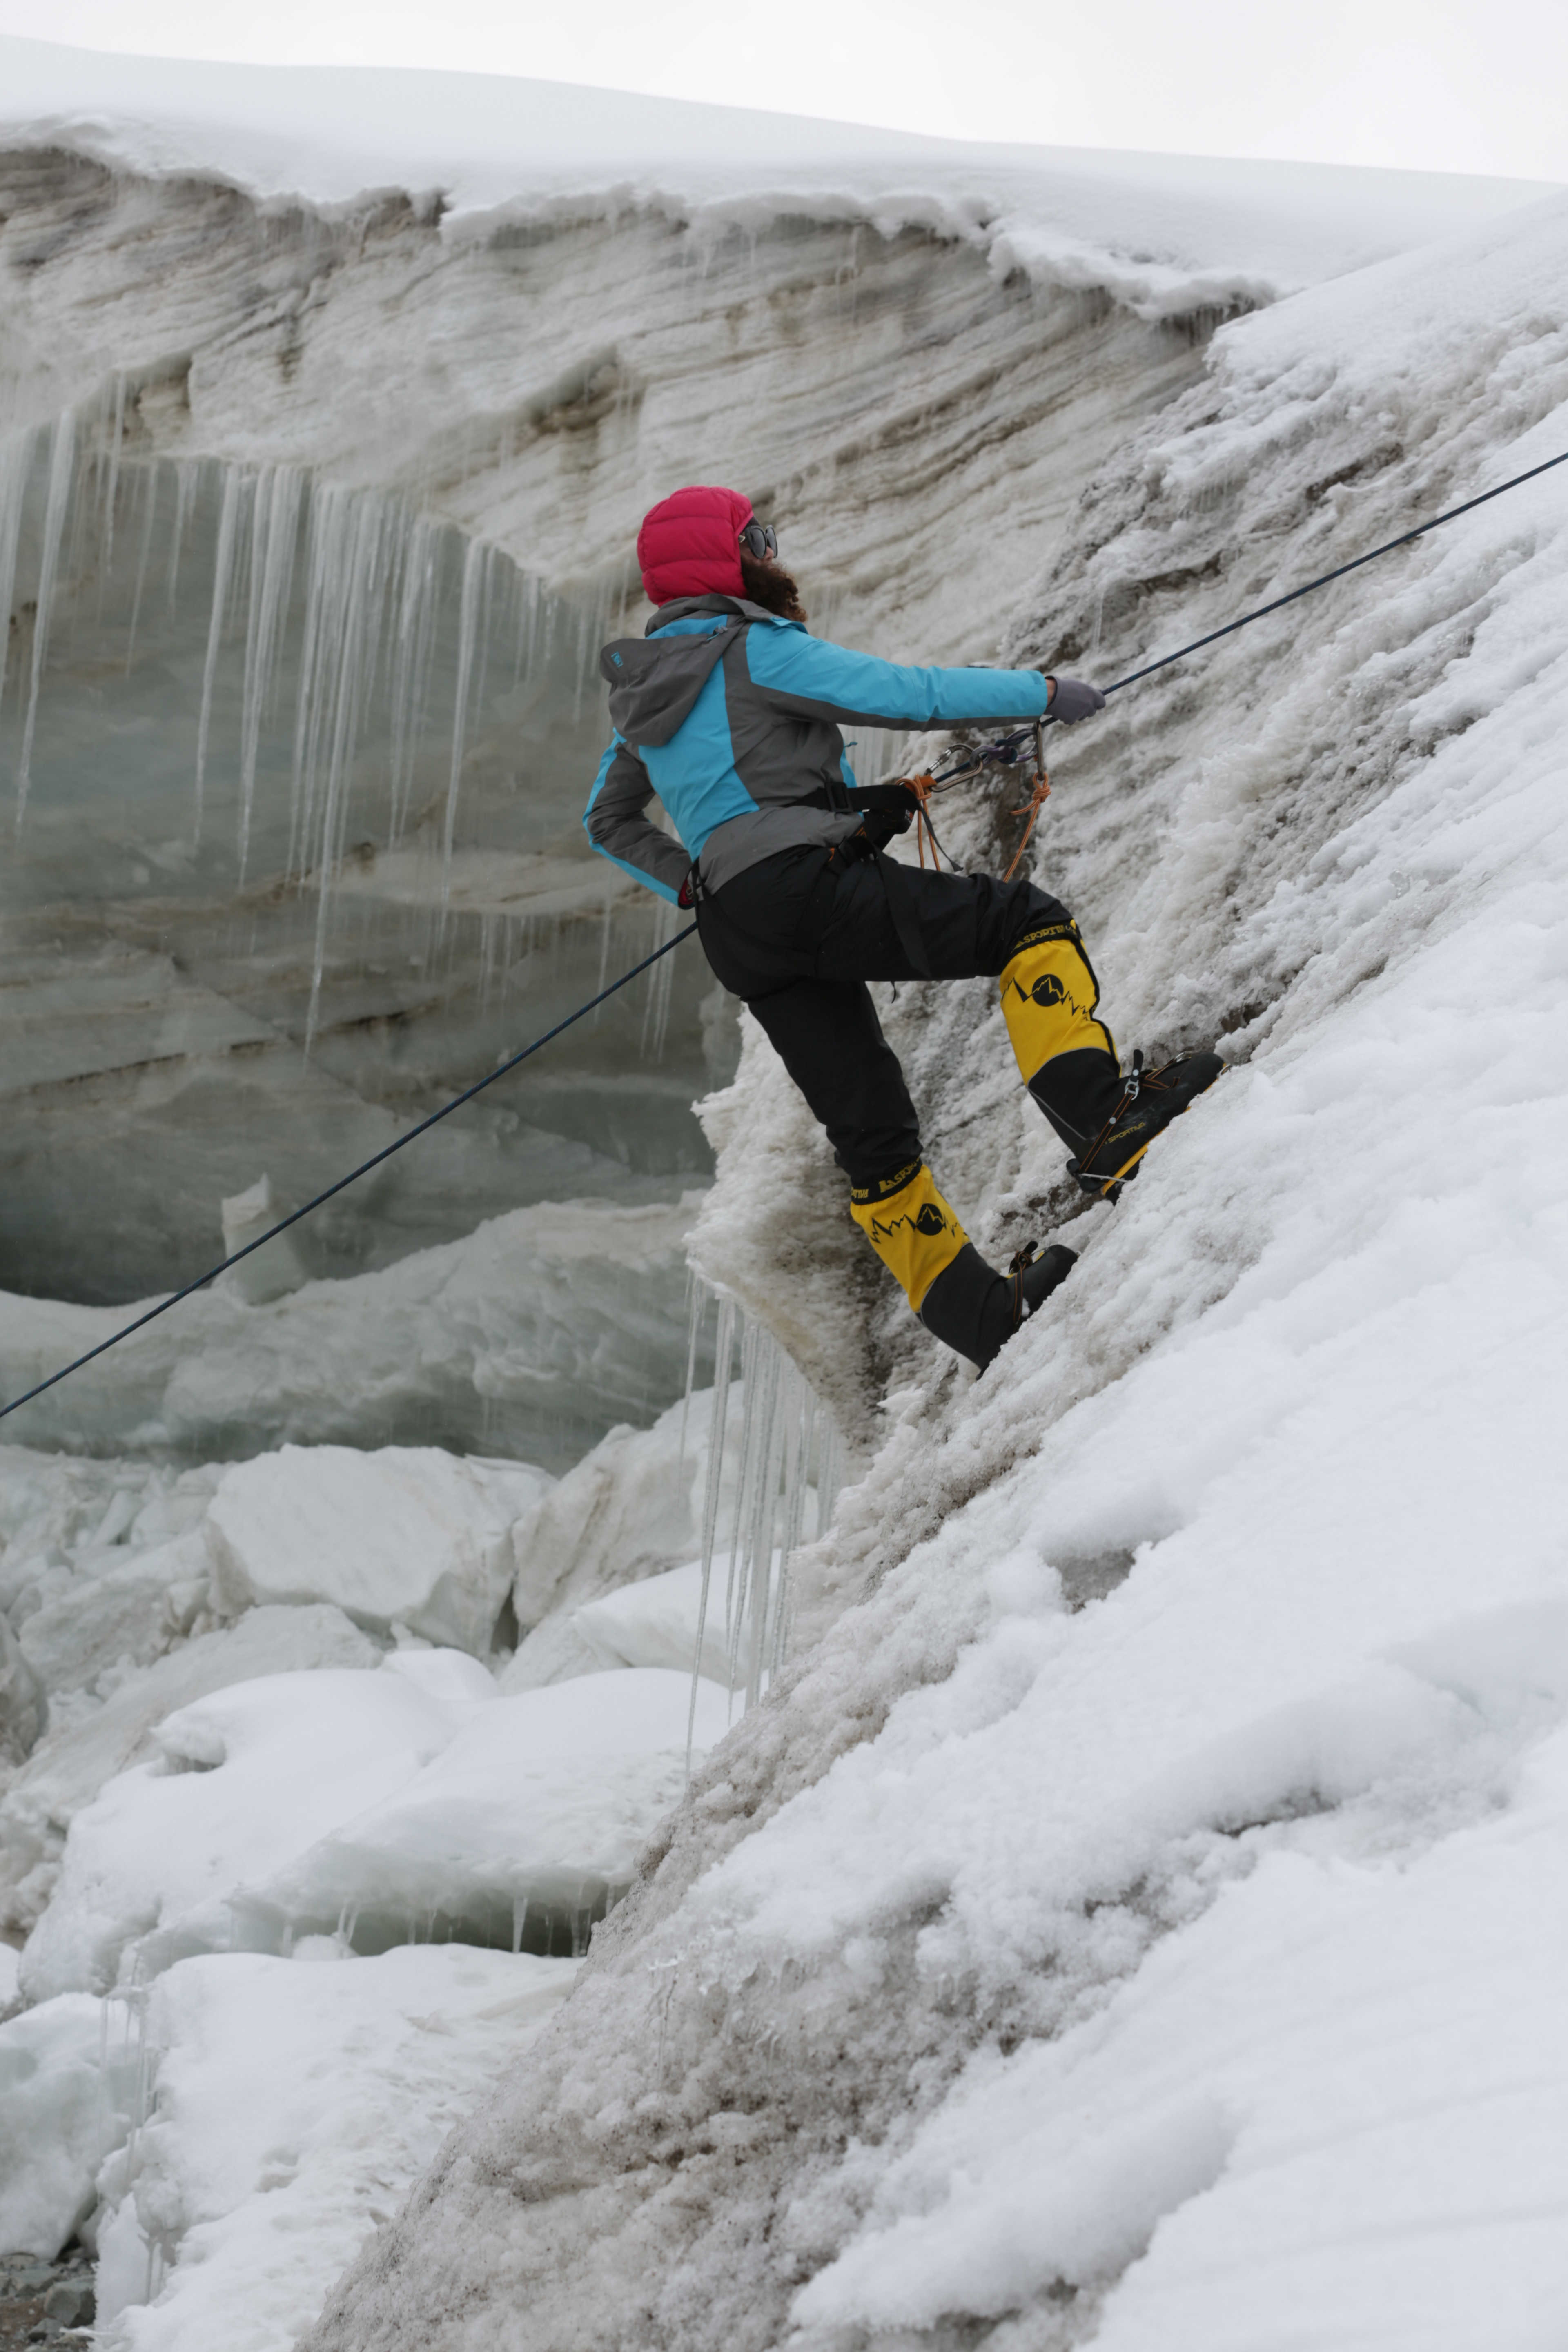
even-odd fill
[(1016, 724), (1041, 717), (1051, 696), (1041, 670), (912, 670), (804, 628), (748, 628), (745, 666), (773, 710), (865, 727)]

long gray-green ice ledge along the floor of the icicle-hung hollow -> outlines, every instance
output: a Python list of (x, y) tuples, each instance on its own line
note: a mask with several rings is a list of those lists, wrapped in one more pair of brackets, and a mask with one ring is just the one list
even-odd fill
[[(31, 1446), (146, 1446), (193, 1477), (284, 1442), (444, 1444), (564, 1470), (616, 1423), (679, 1397), (689, 1223), (691, 1200), (541, 1202), (266, 1308), (214, 1284), (9, 1428)], [(129, 1312), (0, 1294), (7, 1392), (96, 1348)]]

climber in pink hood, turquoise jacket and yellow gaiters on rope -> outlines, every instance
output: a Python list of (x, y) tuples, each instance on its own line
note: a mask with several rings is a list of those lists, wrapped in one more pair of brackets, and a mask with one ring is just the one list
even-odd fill
[[(1006, 1275), (985, 1263), (924, 1162), (865, 983), (999, 978), (1023, 1082), (1093, 1192), (1138, 1171), (1220, 1058), (1192, 1054), (1124, 1080), (1067, 908), (1032, 882), (889, 858), (914, 793), (858, 786), (839, 724), (1074, 722), (1105, 696), (1041, 670), (900, 668), (809, 635), (773, 527), (733, 489), (663, 499), (642, 522), (637, 562), (656, 609), (642, 637), (599, 656), (616, 731), (588, 837), (663, 898), (696, 906), (717, 978), (827, 1129), (856, 1225), (926, 1329), (985, 1367), (1074, 1251), (1020, 1251)], [(651, 823), (654, 795), (677, 837)]]

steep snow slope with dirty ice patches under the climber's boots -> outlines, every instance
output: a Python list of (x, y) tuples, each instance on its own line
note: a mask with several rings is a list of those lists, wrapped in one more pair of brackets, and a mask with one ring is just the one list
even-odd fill
[[(1568, 447), (1566, 254), (1222, 329), (1018, 649), (1119, 675)], [(1060, 748), (1124, 1042), (1234, 1068), (1079, 1214), (990, 988), (889, 1004), (971, 1230), (1081, 1265), (980, 1383), (884, 1301), (830, 1630), (313, 2352), (1561, 2343), (1566, 612), (1568, 468)], [(698, 1258), (827, 1352), (755, 1035), (738, 1105)]]

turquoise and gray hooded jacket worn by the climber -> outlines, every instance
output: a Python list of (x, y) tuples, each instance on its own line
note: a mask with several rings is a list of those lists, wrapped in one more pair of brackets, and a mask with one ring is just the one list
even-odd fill
[[(1016, 727), (1048, 701), (1039, 670), (910, 670), (825, 644), (741, 597), (661, 604), (599, 654), (616, 729), (583, 823), (592, 847), (675, 898), (693, 863), (719, 889), (802, 842), (860, 826), (842, 722)], [(675, 833), (651, 823), (658, 795)]]

